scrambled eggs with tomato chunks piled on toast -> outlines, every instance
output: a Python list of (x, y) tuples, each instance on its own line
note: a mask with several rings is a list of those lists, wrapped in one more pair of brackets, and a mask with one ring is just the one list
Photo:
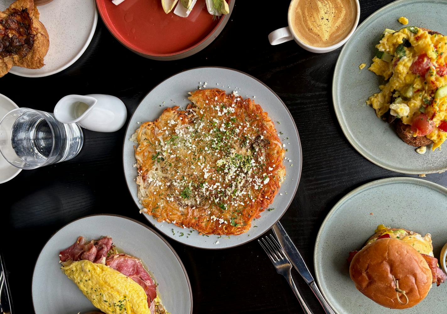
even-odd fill
[(386, 29), (369, 68), (385, 83), (367, 103), (412, 146), (447, 139), (447, 36), (421, 27)]

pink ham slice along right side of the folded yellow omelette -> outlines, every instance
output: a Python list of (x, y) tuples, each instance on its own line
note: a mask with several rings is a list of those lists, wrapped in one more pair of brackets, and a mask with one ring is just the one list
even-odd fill
[(128, 276), (143, 287), (148, 296), (148, 305), (151, 306), (152, 301), (157, 296), (156, 284), (139, 259), (126, 254), (115, 254), (105, 260), (105, 265)]

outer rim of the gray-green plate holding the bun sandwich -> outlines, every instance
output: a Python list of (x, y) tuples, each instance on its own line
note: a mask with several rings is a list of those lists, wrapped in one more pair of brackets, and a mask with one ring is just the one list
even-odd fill
[[(419, 183), (419, 184), (425, 185), (426, 187), (431, 187), (431, 188), (435, 188), (436, 190), (442, 191), (447, 196), (447, 187), (443, 187), (442, 185), (440, 185), (438, 183), (434, 183), (434, 182), (431, 182), (431, 181), (428, 181), (428, 180), (424, 180), (424, 179), (420, 179), (420, 178), (413, 178), (413, 177), (390, 177), (390, 178), (377, 179), (377, 180), (374, 180), (374, 181), (362, 184), (360, 187), (356, 187), (354, 190), (352, 190), (349, 193), (347, 193), (346, 195), (344, 195), (329, 210), (329, 212), (326, 215), (325, 219), (321, 223), (320, 228), (318, 229), (318, 233), (316, 234), (315, 245), (313, 247), (313, 251), (314, 251), (314, 253), (313, 253), (313, 267), (314, 267), (314, 271), (315, 271), (315, 277), (316, 277), (317, 284), (320, 282), (320, 279), (321, 279), (320, 277), (323, 274), (320, 274), (320, 272), (317, 271), (318, 267), (317, 267), (317, 258), (316, 258), (316, 256), (317, 256), (317, 251), (319, 250), (318, 246), (320, 245), (320, 238), (322, 237), (321, 234), (323, 232), (323, 229), (325, 229), (328, 221), (333, 217), (334, 213), (339, 209), (340, 205), (345, 203), (352, 196), (358, 194), (359, 192), (366, 191), (366, 190), (368, 190), (368, 189), (370, 189), (372, 187), (378, 187), (378, 186), (382, 186), (384, 184), (389, 184), (389, 183), (413, 183), (413, 184)], [(320, 290), (321, 290), (321, 294), (323, 294), (323, 297), (325, 298), (325, 300), (329, 303), (329, 306), (331, 306), (331, 308), (334, 310), (334, 312), (339, 314), (339, 312), (337, 310), (335, 310), (333, 304), (329, 301), (328, 295), (326, 294), (326, 291), (324, 289), (321, 289), (321, 288), (320, 288)]]

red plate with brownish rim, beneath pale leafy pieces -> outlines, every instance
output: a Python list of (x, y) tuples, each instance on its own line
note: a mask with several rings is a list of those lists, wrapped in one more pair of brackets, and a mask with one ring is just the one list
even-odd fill
[[(227, 0), (230, 14), (235, 0)], [(213, 19), (205, 0), (198, 0), (189, 17), (166, 14), (160, 0), (96, 0), (104, 24), (124, 46), (144, 57), (177, 60), (207, 47), (227, 24), (230, 14)]]

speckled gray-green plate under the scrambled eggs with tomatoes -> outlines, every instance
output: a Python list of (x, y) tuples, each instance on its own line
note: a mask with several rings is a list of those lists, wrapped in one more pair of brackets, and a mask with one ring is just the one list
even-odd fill
[[(374, 47), (385, 28), (399, 30), (397, 19), (408, 17), (416, 25), (447, 34), (443, 13), (447, 1), (398, 0), (373, 13), (352, 35), (342, 49), (333, 78), (333, 103), (338, 121), (349, 142), (368, 160), (385, 169), (405, 174), (429, 174), (447, 170), (447, 150), (427, 150), (424, 155), (405, 144), (394, 129), (375, 116), (365, 101), (380, 91), (383, 80), (367, 68)], [(427, 14), (428, 12), (433, 14)], [(358, 66), (367, 64), (362, 71)]]

